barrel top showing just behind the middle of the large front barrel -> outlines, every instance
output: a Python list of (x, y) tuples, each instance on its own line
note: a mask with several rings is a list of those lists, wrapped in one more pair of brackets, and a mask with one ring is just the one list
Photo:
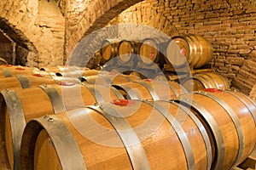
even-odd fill
[(151, 79), (143, 79), (135, 82), (125, 82), (113, 85), (119, 89), (125, 99), (140, 100), (170, 100), (186, 94), (187, 91), (177, 82), (163, 82)]

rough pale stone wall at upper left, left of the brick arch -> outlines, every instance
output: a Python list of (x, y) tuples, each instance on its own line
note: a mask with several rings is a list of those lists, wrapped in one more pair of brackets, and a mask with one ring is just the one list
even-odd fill
[(65, 18), (55, 0), (2, 0), (0, 8), (0, 29), (28, 52), (17, 54), (18, 60), (39, 67), (63, 64)]

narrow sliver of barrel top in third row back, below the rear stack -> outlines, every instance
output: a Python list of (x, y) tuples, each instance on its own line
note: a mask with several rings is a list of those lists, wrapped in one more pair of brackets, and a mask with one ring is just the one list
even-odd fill
[(132, 75), (118, 74), (114, 72), (100, 72), (98, 75), (90, 77), (82, 77), (82, 82), (87, 82), (89, 84), (102, 84), (102, 85), (112, 85), (119, 84), (123, 82), (133, 82), (140, 80), (139, 77)]

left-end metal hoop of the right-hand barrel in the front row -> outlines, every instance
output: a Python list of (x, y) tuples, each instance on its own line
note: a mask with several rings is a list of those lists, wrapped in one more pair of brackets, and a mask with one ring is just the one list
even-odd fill
[(222, 168), (224, 163), (224, 156), (225, 156), (225, 147), (224, 147), (224, 138), (221, 133), (221, 130), (218, 126), (218, 122), (214, 119), (212, 114), (207, 111), (202, 105), (198, 104), (196, 101), (192, 99), (186, 99), (186, 98), (179, 98), (177, 99), (178, 102), (180, 102), (181, 105), (190, 105), (193, 108), (195, 108), (196, 111), (198, 111), (203, 118), (206, 120), (207, 124), (211, 127), (215, 142), (217, 144), (217, 160), (215, 161), (215, 164), (212, 166), (211, 169), (219, 170)]

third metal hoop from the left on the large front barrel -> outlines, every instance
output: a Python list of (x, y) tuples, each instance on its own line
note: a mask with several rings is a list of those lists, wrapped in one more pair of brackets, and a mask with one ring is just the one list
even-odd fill
[(167, 122), (169, 122), (171, 124), (173, 130), (175, 131), (175, 133), (177, 133), (177, 138), (180, 140), (180, 142), (183, 146), (183, 150), (184, 150), (187, 164), (188, 164), (188, 169), (194, 170), (195, 169), (195, 156), (193, 154), (192, 147), (189, 142), (188, 136), (183, 131), (183, 127), (181, 126), (181, 124), (179, 122), (177, 122), (177, 119), (174, 116), (172, 116), (172, 114), (169, 113), (169, 111), (167, 111), (162, 106), (158, 105), (156, 102), (154, 102), (154, 103), (147, 102), (147, 101), (143, 101), (143, 102), (148, 105), (151, 105), (152, 107), (154, 107), (154, 109), (159, 111), (162, 116), (166, 117)]

